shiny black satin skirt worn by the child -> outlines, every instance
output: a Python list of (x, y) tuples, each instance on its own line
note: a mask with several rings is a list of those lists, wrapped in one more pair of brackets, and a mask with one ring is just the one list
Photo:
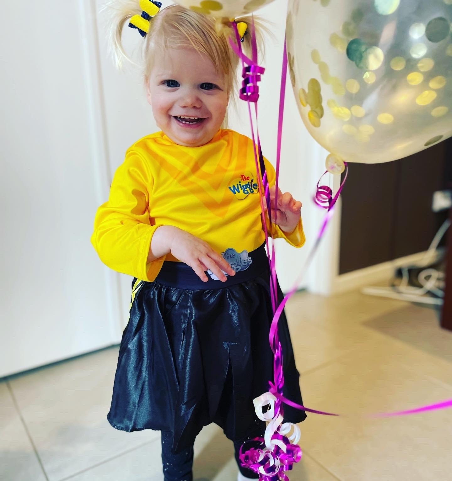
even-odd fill
[[(185, 264), (166, 265), (193, 273)], [(139, 283), (119, 348), (107, 416), (114, 428), (170, 432), (173, 453), (193, 445), (203, 426), (212, 422), (232, 441), (263, 434), (265, 423), (258, 420), (253, 399), (269, 389), (273, 354), (270, 274), (268, 264), (260, 265), (260, 272), (256, 263), (253, 266), (256, 277), (220, 288), (217, 281), (215, 289), (165, 285), (165, 268), (162, 281), (158, 276), (154, 282)], [(134, 280), (132, 286), (136, 284)], [(279, 295), (282, 298), (280, 289)], [(279, 337), (284, 396), (303, 404), (284, 312)], [(285, 421), (305, 418), (304, 411), (284, 406)]]

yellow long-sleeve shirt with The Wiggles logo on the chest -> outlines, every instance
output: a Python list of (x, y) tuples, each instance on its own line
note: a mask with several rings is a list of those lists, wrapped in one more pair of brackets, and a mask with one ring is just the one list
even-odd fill
[[(265, 161), (269, 184), (275, 171)], [(109, 199), (97, 210), (91, 243), (102, 262), (130, 276), (153, 281), (171, 254), (147, 263), (155, 230), (171, 225), (206, 241), (218, 253), (257, 249), (265, 240), (253, 142), (221, 129), (201, 147), (175, 144), (163, 132), (135, 142), (116, 170)], [(290, 233), (273, 227), (301, 247), (300, 222)]]

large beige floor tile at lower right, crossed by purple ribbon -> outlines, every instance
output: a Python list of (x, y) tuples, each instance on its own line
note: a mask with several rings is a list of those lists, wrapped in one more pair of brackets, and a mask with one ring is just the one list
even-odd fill
[[(449, 386), (405, 367), (396, 351), (393, 345), (387, 350), (384, 341), (373, 342), (305, 376), (305, 404), (363, 414), (409, 409), (452, 397)], [(342, 480), (450, 478), (452, 410), (384, 419), (310, 414), (300, 427), (302, 448)]]

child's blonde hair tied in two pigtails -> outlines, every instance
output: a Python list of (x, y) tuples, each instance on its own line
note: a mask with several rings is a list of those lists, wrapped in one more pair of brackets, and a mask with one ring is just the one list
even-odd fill
[[(116, 66), (122, 68), (124, 61), (130, 61), (122, 45), (124, 26), (129, 25), (133, 15), (142, 13), (139, 0), (113, 1), (107, 7), (113, 8), (113, 18), (110, 23), (110, 50)], [(252, 17), (241, 17), (237, 21), (245, 22), (251, 26)], [(204, 54), (211, 60), (218, 73), (226, 76), (228, 93), (237, 90), (237, 67), (240, 60), (232, 51), (229, 38), (235, 35), (232, 25), (222, 23), (212, 16), (196, 13), (181, 5), (170, 5), (162, 8), (159, 13), (149, 19), (149, 33), (142, 39), (142, 74), (147, 81), (153, 67), (153, 51), (155, 48), (190, 48)], [(256, 39), (259, 50), (263, 42), (261, 30), (266, 30), (258, 19), (254, 19)], [(249, 30), (249, 27), (248, 27)], [(137, 42), (141, 37), (135, 32)], [(242, 43), (245, 54), (250, 55), (251, 35), (245, 35)]]

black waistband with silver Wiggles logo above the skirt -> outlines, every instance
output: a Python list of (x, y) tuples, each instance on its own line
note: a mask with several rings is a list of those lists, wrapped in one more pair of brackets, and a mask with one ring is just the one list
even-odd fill
[[(225, 287), (240, 284), (247, 280), (257, 278), (268, 266), (265, 244), (256, 250), (247, 253), (236, 253), (233, 249), (227, 249), (222, 253), (223, 257), (235, 270), (235, 276), (226, 276), (226, 281), (217, 280), (213, 274), (206, 272), (207, 282), (202, 281), (194, 270), (183, 262), (165, 261), (155, 281), (168, 287), (178, 289), (223, 289)], [(213, 276), (213, 277), (212, 277)]]

